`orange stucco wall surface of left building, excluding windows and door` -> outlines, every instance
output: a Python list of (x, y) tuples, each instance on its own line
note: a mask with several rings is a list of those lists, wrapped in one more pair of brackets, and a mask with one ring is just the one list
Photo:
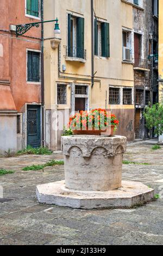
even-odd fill
[[(25, 103), (41, 102), (41, 84), (28, 83), (27, 77), (27, 48), (40, 50), (41, 27), (32, 28), (24, 36), (18, 36), (9, 31), (9, 25), (39, 22), (37, 19), (26, 17), (26, 0), (1, 0), (0, 2), (0, 44), (3, 47), (3, 54), (0, 54), (0, 85), (1, 92), (4, 89), (8, 94), (3, 93), (8, 99), (0, 101), (0, 110), (13, 109), (11, 107), (11, 96), (18, 112), (22, 111)], [(9, 81), (5, 86), (2, 81)], [(5, 88), (10, 87), (10, 88)], [(10, 89), (10, 90), (9, 90)], [(12, 94), (9, 96), (9, 94)], [(8, 95), (8, 96), (7, 96)], [(13, 109), (15, 110), (15, 109)]]

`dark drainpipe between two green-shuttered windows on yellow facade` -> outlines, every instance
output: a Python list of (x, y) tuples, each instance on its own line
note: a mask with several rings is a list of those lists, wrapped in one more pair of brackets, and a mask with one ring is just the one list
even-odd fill
[(93, 0), (91, 0), (91, 51), (92, 51), (92, 88), (94, 86), (94, 11)]

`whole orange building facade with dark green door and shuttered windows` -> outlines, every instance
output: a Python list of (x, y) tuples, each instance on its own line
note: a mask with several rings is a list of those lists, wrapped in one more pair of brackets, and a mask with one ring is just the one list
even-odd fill
[(15, 25), (39, 21), (41, 1), (1, 0), (0, 154), (42, 142), (41, 27), (15, 34)]

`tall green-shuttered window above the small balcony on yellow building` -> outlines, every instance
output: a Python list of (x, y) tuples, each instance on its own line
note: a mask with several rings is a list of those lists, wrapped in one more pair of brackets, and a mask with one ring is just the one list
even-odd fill
[(84, 18), (68, 14), (68, 57), (84, 59)]

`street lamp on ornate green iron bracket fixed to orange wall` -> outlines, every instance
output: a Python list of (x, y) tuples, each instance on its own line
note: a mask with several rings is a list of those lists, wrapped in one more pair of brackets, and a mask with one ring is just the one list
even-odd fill
[(56, 22), (55, 27), (54, 27), (54, 33), (60, 34), (58, 18), (56, 20), (51, 20), (51, 21), (41, 21), (41, 22), (34, 22), (34, 23), (27, 23), (27, 24), (12, 26), (12, 28), (14, 27), (14, 29), (12, 29), (12, 30), (14, 30), (16, 32), (16, 36), (23, 35), (27, 31), (29, 31), (30, 28), (32, 28), (32, 27), (38, 28), (40, 26), (40, 24), (47, 23), (47, 22)]

